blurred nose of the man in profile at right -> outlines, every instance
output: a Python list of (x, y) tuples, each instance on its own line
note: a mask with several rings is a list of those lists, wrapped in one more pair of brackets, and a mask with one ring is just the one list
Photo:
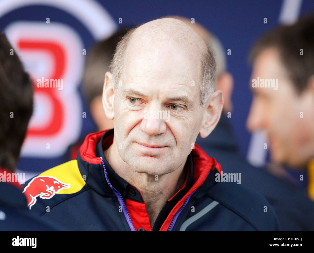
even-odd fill
[(246, 120), (246, 127), (250, 132), (254, 132), (258, 129), (263, 129), (265, 126), (265, 120), (263, 119), (263, 107), (253, 98), (249, 115)]

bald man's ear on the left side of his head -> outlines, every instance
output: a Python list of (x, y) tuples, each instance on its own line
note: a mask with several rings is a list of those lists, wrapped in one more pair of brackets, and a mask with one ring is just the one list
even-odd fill
[(107, 118), (110, 120), (115, 118), (113, 110), (114, 97), (115, 94), (113, 92), (112, 74), (110, 72), (106, 72), (104, 88), (102, 92), (102, 106), (104, 107)]

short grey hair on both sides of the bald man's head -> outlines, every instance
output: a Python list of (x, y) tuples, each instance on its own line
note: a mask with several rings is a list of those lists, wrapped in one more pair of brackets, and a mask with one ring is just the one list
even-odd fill
[[(136, 27), (137, 28), (137, 27)], [(123, 36), (121, 41), (119, 41), (115, 54), (113, 56), (112, 62), (109, 66), (111, 70), (111, 74), (113, 75), (113, 82), (114, 82), (114, 92), (117, 91), (117, 87), (119, 84), (119, 80), (125, 68), (126, 59), (124, 57), (127, 47), (130, 43), (130, 39), (133, 35), (133, 32), (136, 30), (133, 28), (129, 30), (126, 35)], [(207, 45), (207, 44), (206, 44)], [(216, 90), (215, 85), (215, 70), (216, 70), (216, 63), (214, 54), (212, 49), (209, 45), (207, 45), (207, 50), (202, 52), (201, 57), (202, 63), (202, 71), (200, 76), (200, 103), (201, 106), (204, 107), (209, 96)]]

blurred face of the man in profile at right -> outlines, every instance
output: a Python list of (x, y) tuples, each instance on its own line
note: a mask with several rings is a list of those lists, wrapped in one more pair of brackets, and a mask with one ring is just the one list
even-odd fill
[[(268, 48), (259, 54), (253, 64), (253, 79), (278, 79), (278, 89), (252, 88), (253, 101), (247, 119), (248, 129), (266, 130), (271, 158), (280, 163), (300, 165), (304, 144), (310, 133), (309, 100), (298, 95), (279, 59), (276, 49)], [(300, 118), (303, 112), (307, 117)], [(303, 153), (302, 153), (303, 152)]]

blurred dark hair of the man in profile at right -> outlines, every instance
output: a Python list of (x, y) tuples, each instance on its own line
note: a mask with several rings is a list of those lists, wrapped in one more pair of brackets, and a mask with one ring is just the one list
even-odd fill
[[(268, 48), (279, 52), (295, 91), (302, 93), (314, 74), (314, 14), (302, 17), (292, 25), (280, 25), (262, 36), (250, 52), (250, 63)], [(300, 54), (301, 49), (303, 54)]]

